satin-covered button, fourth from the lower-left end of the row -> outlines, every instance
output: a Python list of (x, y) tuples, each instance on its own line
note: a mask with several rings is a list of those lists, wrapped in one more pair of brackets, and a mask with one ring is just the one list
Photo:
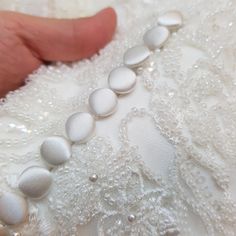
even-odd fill
[(72, 142), (85, 143), (94, 133), (94, 118), (85, 112), (71, 115), (66, 121), (66, 133)]

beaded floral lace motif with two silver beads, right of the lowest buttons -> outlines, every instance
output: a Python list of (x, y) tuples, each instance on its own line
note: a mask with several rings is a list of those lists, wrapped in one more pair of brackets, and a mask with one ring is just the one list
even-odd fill
[[(97, 138), (74, 152), (73, 160), (54, 171), (49, 196), (60, 235), (76, 235), (76, 226), (93, 218), (99, 235), (178, 234), (173, 195), (145, 171), (134, 148), (115, 154)], [(94, 173), (96, 182), (89, 179)]]

